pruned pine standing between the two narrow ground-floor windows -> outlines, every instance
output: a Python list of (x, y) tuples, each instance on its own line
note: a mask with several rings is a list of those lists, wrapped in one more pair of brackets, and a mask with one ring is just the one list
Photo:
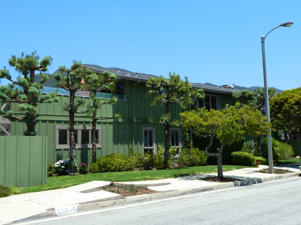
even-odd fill
[(166, 113), (160, 117), (158, 123), (165, 126), (164, 165), (166, 166), (171, 147), (171, 143), (169, 142), (170, 127), (179, 125), (179, 121), (172, 120), (171, 118), (170, 106), (172, 104), (179, 104), (182, 108), (187, 108), (189, 104), (193, 103), (193, 98), (204, 98), (204, 91), (203, 89), (194, 89), (191, 83), (188, 82), (187, 77), (183, 81), (180, 75), (170, 72), (169, 79), (163, 76), (151, 76), (146, 82), (146, 86), (149, 89), (147, 95), (156, 94), (151, 105), (157, 105), (158, 103), (161, 105), (165, 104)]

